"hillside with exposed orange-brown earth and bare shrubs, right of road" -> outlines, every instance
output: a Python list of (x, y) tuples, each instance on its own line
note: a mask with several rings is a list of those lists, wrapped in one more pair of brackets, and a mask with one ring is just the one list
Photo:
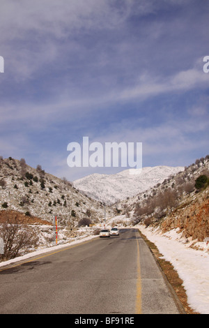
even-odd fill
[(185, 241), (203, 241), (209, 237), (209, 190), (207, 184), (205, 188), (195, 188), (201, 175), (209, 177), (208, 156), (115, 207), (132, 225), (153, 225), (162, 232), (178, 228)]

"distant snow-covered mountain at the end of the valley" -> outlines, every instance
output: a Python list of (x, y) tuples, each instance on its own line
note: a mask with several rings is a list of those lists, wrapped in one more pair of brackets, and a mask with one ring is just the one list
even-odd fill
[(95, 200), (114, 204), (144, 192), (183, 170), (184, 167), (155, 166), (123, 170), (117, 174), (95, 173), (73, 181), (73, 185)]

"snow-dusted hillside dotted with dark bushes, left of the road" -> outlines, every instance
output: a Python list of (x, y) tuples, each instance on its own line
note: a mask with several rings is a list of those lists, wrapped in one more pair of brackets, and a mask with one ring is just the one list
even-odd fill
[(81, 218), (98, 222), (104, 217), (102, 204), (79, 193), (66, 179), (13, 158), (0, 160), (0, 207), (51, 223), (57, 216), (59, 224), (72, 227)]

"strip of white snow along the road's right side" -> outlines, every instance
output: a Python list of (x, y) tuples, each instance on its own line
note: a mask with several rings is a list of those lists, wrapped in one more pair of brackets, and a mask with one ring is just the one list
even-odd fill
[(173, 264), (178, 276), (183, 280), (189, 306), (201, 314), (209, 314), (209, 253), (206, 243), (201, 243), (203, 251), (189, 248), (190, 243), (180, 241), (178, 230), (162, 234), (160, 230), (137, 228), (153, 242), (165, 260)]

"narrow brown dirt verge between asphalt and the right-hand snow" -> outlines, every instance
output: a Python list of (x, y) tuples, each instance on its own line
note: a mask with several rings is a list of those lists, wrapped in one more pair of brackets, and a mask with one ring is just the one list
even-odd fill
[(176, 297), (180, 301), (180, 304), (182, 304), (185, 313), (199, 314), (198, 312), (194, 311), (187, 303), (187, 293), (185, 291), (185, 288), (183, 287), (183, 281), (179, 278), (178, 272), (173, 268), (173, 265), (170, 262), (162, 259), (161, 257), (163, 255), (158, 251), (157, 246), (155, 246), (155, 244), (148, 240), (146, 236), (141, 233), (141, 231), (139, 231), (139, 233), (141, 234), (141, 237), (144, 239), (144, 241), (146, 241), (146, 244), (150, 248), (150, 251), (155, 256), (155, 260), (160, 265), (160, 268), (162, 269), (174, 292), (176, 293)]

